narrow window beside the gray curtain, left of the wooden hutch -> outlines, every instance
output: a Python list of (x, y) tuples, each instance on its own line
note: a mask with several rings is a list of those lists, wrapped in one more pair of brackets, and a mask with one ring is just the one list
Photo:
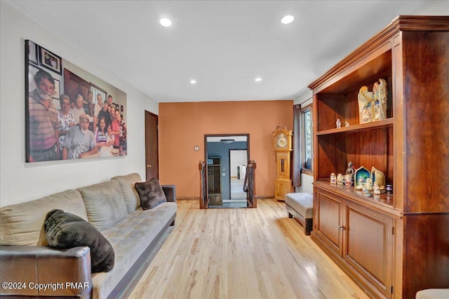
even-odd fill
[(311, 121), (311, 105), (308, 105), (301, 109), (302, 120), (302, 163), (301, 167), (303, 171), (312, 171), (313, 161), (313, 128)]

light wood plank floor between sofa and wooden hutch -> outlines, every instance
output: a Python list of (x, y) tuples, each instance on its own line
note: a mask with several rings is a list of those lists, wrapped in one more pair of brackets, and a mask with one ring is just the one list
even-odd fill
[(283, 202), (177, 205), (175, 228), (128, 298), (368, 298), (287, 217)]

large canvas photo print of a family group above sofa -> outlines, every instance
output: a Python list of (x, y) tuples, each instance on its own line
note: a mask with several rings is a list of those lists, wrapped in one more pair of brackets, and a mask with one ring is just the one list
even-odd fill
[(127, 155), (125, 92), (29, 40), (25, 74), (27, 162)]

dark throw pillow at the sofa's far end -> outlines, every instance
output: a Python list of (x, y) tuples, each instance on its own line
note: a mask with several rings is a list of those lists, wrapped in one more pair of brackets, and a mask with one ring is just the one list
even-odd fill
[(162, 186), (156, 178), (135, 183), (134, 188), (138, 191), (142, 209), (153, 209), (159, 204), (167, 202), (166, 194), (163, 193)]

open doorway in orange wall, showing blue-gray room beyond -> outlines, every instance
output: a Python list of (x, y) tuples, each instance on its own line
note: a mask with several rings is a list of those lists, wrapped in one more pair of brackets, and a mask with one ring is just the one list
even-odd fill
[[(237, 167), (234, 167), (231, 153), (239, 151), (242, 156), (235, 163), (240, 163), (239, 165), (248, 163), (250, 157), (249, 134), (204, 135), (204, 144), (208, 173), (208, 207), (246, 207), (246, 193), (243, 192), (243, 181), (245, 178), (243, 176), (241, 180), (237, 181)], [(234, 158), (234, 154), (232, 155)], [(235, 176), (235, 180), (232, 176)], [(234, 189), (236, 193), (241, 190), (239, 195), (235, 195), (235, 198), (232, 195), (233, 181), (238, 183)]]

